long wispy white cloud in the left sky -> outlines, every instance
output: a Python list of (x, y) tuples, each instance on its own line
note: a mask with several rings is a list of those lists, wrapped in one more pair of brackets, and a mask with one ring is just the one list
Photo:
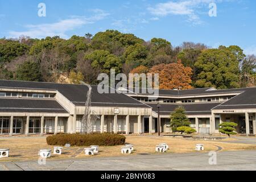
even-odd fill
[(69, 19), (60, 20), (55, 23), (44, 24), (28, 24), (24, 26), (26, 31), (10, 31), (11, 37), (19, 37), (20, 35), (30, 36), (31, 38), (45, 38), (46, 36), (59, 35), (62, 38), (67, 38), (67, 32), (75, 28), (84, 26), (85, 24), (92, 24), (98, 20), (104, 19), (108, 13), (100, 9), (92, 10), (94, 15), (90, 17), (85, 16), (72, 16)]

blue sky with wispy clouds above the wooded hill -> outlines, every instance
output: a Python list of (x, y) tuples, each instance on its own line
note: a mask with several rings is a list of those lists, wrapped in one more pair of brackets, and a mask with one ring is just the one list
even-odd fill
[(172, 46), (183, 42), (212, 48), (237, 45), (247, 55), (256, 55), (256, 1), (0, 0), (0, 38), (59, 35), (68, 39), (109, 29), (146, 41), (167, 39)]

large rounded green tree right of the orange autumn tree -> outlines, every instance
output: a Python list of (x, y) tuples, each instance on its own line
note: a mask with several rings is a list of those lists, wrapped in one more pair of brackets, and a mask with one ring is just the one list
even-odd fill
[(199, 71), (195, 85), (199, 88), (239, 87), (239, 61), (229, 49), (204, 50), (198, 57), (195, 67)]

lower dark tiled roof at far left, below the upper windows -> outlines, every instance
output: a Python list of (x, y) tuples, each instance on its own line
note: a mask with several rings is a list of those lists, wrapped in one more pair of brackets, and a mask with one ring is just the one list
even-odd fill
[(1, 112), (68, 113), (55, 100), (33, 100), (21, 98), (0, 98)]

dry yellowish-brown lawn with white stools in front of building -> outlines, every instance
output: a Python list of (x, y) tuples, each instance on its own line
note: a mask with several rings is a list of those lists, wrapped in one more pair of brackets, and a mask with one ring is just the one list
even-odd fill
[[(225, 139), (230, 140), (230, 139)], [(231, 139), (233, 140), (233, 139)], [(223, 151), (232, 150), (256, 150), (256, 144), (241, 144), (241, 143), (224, 143), (222, 140), (216, 141), (199, 141), (183, 138), (167, 138), (167, 137), (136, 137), (127, 136), (126, 143), (134, 144), (135, 151), (131, 155), (137, 154), (159, 154), (155, 152), (155, 146), (160, 143), (167, 143), (170, 150), (167, 153), (188, 153), (195, 151), (195, 144), (204, 144), (205, 152), (215, 151), (217, 146), (222, 147)], [(86, 147), (86, 146), (85, 146)], [(121, 156), (122, 146), (101, 146), (100, 152), (94, 156), (85, 156), (83, 149), (85, 147), (64, 147), (63, 155), (52, 155), (49, 160), (68, 159), (68, 158), (96, 158), (102, 156)], [(40, 149), (51, 149), (53, 146), (48, 146), (46, 138), (28, 137), (28, 138), (0, 138), (0, 148), (10, 148), (10, 158), (2, 158), (3, 161), (18, 161), (18, 160), (37, 160), (39, 158), (38, 151)], [(127, 155), (127, 154), (126, 154)]]

